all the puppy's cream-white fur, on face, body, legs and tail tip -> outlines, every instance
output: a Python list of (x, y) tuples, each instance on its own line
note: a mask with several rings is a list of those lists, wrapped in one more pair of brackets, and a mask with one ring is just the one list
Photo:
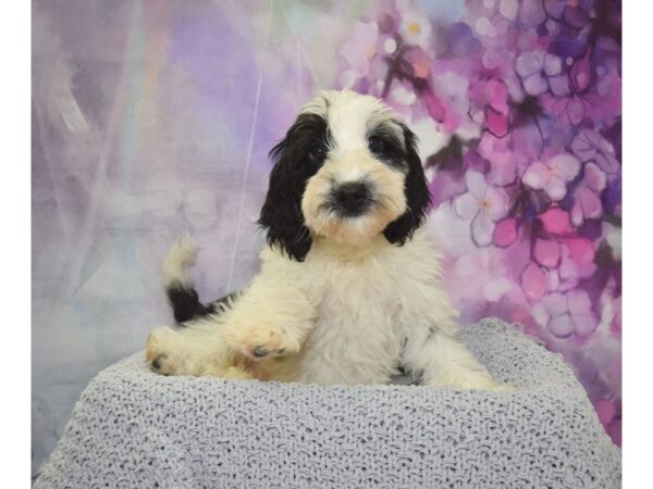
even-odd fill
[[(322, 92), (303, 112), (326, 117), (334, 141), (303, 197), (312, 237), (305, 260), (266, 247), (260, 274), (219, 314), (150, 334), (150, 364), (171, 375), (349, 385), (387, 383), (403, 365), (430, 386), (506, 389), (456, 339), (457, 312), (428, 227), (402, 247), (382, 234), (406, 210), (403, 170), (367, 150), (367, 134), (379, 124), (402, 135), (390, 110), (345, 91)], [(361, 175), (382, 204), (355, 218), (323, 215), (329, 181)], [(173, 246), (167, 284), (188, 283), (196, 252), (189, 239)]]

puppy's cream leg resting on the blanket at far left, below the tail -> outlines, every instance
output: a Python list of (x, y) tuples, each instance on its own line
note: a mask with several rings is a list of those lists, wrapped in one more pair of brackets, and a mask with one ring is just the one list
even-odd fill
[(157, 328), (148, 336), (146, 360), (163, 375), (251, 378), (224, 342), (221, 328), (212, 319), (186, 323), (178, 330)]

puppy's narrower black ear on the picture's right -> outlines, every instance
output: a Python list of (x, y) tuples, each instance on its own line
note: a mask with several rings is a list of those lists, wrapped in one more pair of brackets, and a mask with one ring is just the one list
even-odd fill
[(404, 192), (406, 193), (406, 206), (408, 209), (383, 229), (383, 235), (390, 242), (402, 246), (412, 237), (415, 229), (424, 222), (427, 209), (431, 203), (431, 192), (417, 153), (417, 136), (404, 124), (399, 125), (404, 129), (404, 140), (406, 142), (408, 173), (404, 181)]

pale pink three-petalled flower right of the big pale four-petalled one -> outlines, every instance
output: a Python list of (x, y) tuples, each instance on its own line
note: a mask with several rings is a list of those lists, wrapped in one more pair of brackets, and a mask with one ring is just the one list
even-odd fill
[(521, 176), (521, 181), (535, 190), (544, 189), (552, 200), (557, 201), (565, 197), (567, 181), (571, 181), (579, 170), (580, 162), (576, 156), (559, 154), (546, 163), (531, 164)]

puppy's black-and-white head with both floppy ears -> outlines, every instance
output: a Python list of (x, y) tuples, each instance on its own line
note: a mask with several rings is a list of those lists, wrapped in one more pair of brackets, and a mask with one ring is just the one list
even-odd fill
[(270, 152), (268, 242), (298, 261), (313, 237), (365, 246), (383, 233), (404, 244), (431, 200), (416, 143), (380, 100), (320, 92)]

